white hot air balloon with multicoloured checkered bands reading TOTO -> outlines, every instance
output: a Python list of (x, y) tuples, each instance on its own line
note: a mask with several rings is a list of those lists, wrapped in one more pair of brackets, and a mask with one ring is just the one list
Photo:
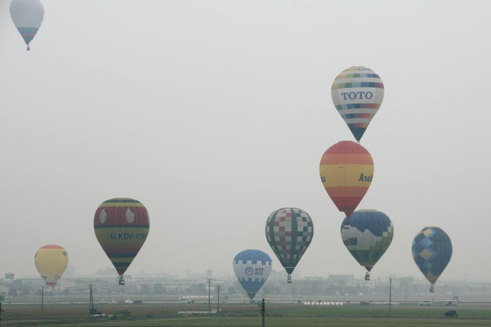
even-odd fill
[(363, 66), (344, 70), (332, 83), (332, 102), (358, 143), (382, 104), (383, 91), (379, 75)]

